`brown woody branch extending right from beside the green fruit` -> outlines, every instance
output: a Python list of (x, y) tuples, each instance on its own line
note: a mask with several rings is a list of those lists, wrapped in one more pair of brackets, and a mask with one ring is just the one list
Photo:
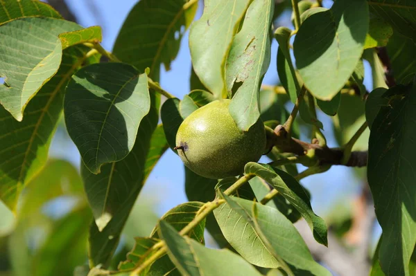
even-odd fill
[[(309, 143), (296, 138), (288, 138), (288, 133), (282, 125), (275, 128), (274, 135), (268, 133), (269, 143), (275, 145), (281, 152), (293, 153), (298, 156), (306, 156), (309, 152), (312, 154), (313, 165), (343, 165), (343, 149), (329, 148), (320, 146), (316, 143)], [(367, 165), (367, 151), (352, 151), (347, 163), (347, 167), (365, 167)], [(304, 164), (307, 165), (307, 164)]]

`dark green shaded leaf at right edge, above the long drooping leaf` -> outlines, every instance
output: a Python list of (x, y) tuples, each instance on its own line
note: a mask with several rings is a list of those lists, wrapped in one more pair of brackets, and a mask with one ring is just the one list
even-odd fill
[(397, 84), (409, 84), (416, 73), (416, 42), (400, 35), (393, 35), (387, 44), (387, 52)]

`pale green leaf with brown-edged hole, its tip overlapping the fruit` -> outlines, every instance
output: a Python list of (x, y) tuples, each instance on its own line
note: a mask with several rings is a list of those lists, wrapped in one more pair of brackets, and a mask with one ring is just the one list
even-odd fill
[(227, 57), (225, 80), (229, 95), (234, 86), (239, 86), (229, 104), (229, 113), (243, 131), (248, 131), (260, 116), (259, 89), (270, 64), (274, 8), (270, 0), (252, 1)]

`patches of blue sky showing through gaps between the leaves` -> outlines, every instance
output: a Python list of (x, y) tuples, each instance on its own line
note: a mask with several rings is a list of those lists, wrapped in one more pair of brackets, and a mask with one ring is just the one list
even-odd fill
[[(87, 4), (87, 1), (91, 1), (90, 4)], [(94, 25), (102, 26), (103, 46), (107, 50), (111, 50), (125, 17), (135, 3), (137, 3), (137, 0), (67, 0), (67, 3), (69, 3), (69, 8), (78, 16), (81, 25), (85, 27)], [(89, 10), (88, 6), (91, 3), (94, 3), (94, 6), (98, 7), (99, 17), (94, 16), (91, 10)], [(201, 13), (202, 8), (200, 6), (197, 18), (200, 17)], [(290, 13), (287, 13), (279, 24), (293, 28), (289, 19)], [(263, 84), (275, 84), (278, 81), (275, 61), (276, 55), (277, 43), (273, 41), (272, 62), (270, 63), (268, 73), (264, 77)], [(165, 72), (162, 66), (160, 81), (162, 87), (177, 98), (182, 98), (185, 94), (189, 93), (190, 64), (188, 37), (185, 35), (182, 39), (180, 52), (171, 65), (171, 71)], [(365, 73), (367, 76), (370, 76), (371, 72), (367, 67), (366, 64)], [(366, 77), (365, 84), (367, 89), (371, 91), (372, 87), (369, 77)], [(324, 123), (324, 134), (328, 138), (329, 146), (338, 146), (333, 139), (330, 125), (331, 120), (329, 117), (319, 114), (319, 118)], [(64, 147), (62, 147), (62, 142), (64, 142)], [(71, 141), (62, 136), (62, 133), (58, 133), (58, 137), (53, 142), (51, 156), (69, 159), (77, 167), (80, 164), (78, 150)], [(263, 162), (267, 162), (266, 158), (262, 160)], [(343, 166), (334, 166), (329, 172), (310, 176), (302, 181), (302, 183), (311, 190), (313, 208), (315, 212), (322, 216), (333, 204), (338, 203), (342, 199), (351, 199), (360, 187), (359, 181), (352, 173), (352, 169)], [(150, 174), (139, 200), (145, 197), (148, 198), (149, 196), (159, 197), (157, 201), (159, 204), (156, 208), (157, 213), (160, 215), (175, 205), (187, 201), (184, 194), (184, 169), (182, 162), (169, 149)]]

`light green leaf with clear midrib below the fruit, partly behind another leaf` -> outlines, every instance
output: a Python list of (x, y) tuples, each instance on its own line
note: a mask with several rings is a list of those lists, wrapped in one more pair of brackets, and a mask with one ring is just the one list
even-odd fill
[(241, 257), (264, 268), (278, 268), (279, 261), (261, 241), (259, 234), (250, 225), (250, 214), (245, 212), (239, 205), (229, 203), (223, 204), (214, 210), (214, 215), (225, 239)]

